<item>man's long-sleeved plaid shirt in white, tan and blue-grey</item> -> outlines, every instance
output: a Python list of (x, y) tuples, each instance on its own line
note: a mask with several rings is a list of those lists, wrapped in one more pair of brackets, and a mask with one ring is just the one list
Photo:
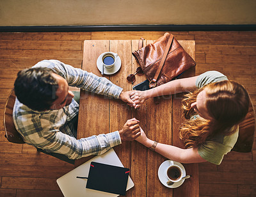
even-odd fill
[[(66, 79), (69, 86), (76, 86), (93, 93), (118, 99), (122, 91), (122, 88), (104, 77), (98, 77), (58, 60), (40, 61), (34, 67), (51, 68)], [(74, 138), (72, 133), (74, 128), (68, 123), (78, 114), (78, 110), (79, 104), (74, 99), (69, 106), (48, 111), (33, 111), (16, 99), (13, 121), (26, 143), (47, 152), (67, 155), (70, 159), (103, 154), (109, 148), (122, 143), (118, 131), (89, 138)]]

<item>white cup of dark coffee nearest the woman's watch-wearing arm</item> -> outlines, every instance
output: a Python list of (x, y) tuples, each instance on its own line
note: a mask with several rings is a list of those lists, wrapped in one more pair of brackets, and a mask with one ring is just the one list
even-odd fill
[(170, 161), (170, 166), (166, 169), (166, 176), (172, 182), (179, 182), (183, 177), (183, 171), (180, 166)]

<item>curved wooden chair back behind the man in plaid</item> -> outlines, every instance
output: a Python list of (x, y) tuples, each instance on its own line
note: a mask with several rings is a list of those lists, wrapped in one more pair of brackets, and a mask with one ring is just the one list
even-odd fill
[(15, 93), (14, 93), (14, 90), (12, 89), (4, 107), (5, 137), (8, 139), (8, 141), (12, 143), (23, 144), (24, 141), (21, 138), (19, 132), (16, 130), (15, 125), (13, 123), (13, 118), (12, 118), (15, 98), (16, 98)]

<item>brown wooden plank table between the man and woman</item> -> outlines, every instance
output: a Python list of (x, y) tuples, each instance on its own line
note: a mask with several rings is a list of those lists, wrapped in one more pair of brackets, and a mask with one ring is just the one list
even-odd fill
[[(150, 42), (153, 41), (145, 40), (143, 44)], [(195, 41), (179, 42), (195, 59)], [(131, 53), (137, 49), (138, 40), (85, 40), (83, 70), (101, 76), (96, 65), (97, 58), (102, 52), (116, 52), (122, 60), (122, 67), (116, 74), (104, 77), (124, 88), (124, 91), (132, 90), (132, 84), (127, 82), (126, 77), (134, 73), (139, 66)], [(185, 72), (182, 77), (193, 75), (195, 68)], [(145, 79), (145, 75), (136, 75), (134, 84)], [(178, 135), (180, 123), (183, 122), (180, 118), (181, 98), (182, 94), (164, 96), (157, 105), (154, 99), (149, 99), (139, 109), (132, 109), (121, 100), (81, 91), (77, 139), (120, 130), (128, 119), (135, 117), (140, 120), (140, 126), (148, 138), (184, 148)], [(157, 175), (159, 166), (167, 160), (165, 157), (152, 152), (137, 141), (125, 141), (114, 149), (122, 164), (131, 169), (134, 187), (127, 191), (126, 196), (199, 196), (198, 164), (183, 164), (186, 174), (192, 177), (185, 180), (180, 187), (170, 189), (161, 184)], [(92, 157), (77, 160), (76, 166), (90, 158)]]

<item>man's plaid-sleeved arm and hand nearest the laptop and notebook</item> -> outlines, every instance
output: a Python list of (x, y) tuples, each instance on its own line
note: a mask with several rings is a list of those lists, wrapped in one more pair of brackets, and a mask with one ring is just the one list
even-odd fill
[(38, 138), (37, 134), (33, 134), (26, 136), (26, 142), (47, 152), (66, 155), (69, 159), (104, 154), (110, 148), (120, 145), (122, 141), (132, 141), (140, 136), (140, 125), (135, 118), (127, 120), (121, 130), (81, 139), (68, 136), (58, 130), (46, 130), (47, 127), (44, 126), (42, 128), (45, 129), (38, 135), (44, 137)]

